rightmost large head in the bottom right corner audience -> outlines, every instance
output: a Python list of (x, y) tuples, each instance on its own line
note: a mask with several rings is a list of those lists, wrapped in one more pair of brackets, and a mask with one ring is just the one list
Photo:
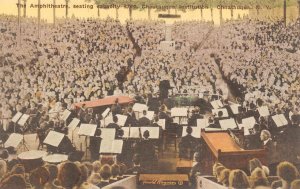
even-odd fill
[(299, 177), (297, 168), (290, 162), (284, 161), (277, 166), (279, 181), (272, 183), (273, 189), (290, 189), (291, 183)]

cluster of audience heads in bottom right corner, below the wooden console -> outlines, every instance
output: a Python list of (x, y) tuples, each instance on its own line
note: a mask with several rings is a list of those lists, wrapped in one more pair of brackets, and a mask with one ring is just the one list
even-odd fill
[(229, 188), (282, 188), (295, 189), (299, 185), (299, 171), (290, 162), (281, 162), (277, 166), (277, 177), (269, 177), (268, 167), (258, 159), (249, 161), (249, 172), (240, 169), (228, 169), (221, 163), (213, 166), (213, 175), (217, 182)]

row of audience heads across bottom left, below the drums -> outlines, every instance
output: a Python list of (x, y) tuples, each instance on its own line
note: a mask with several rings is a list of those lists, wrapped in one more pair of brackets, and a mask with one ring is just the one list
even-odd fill
[(16, 161), (14, 164), (0, 160), (0, 187), (3, 189), (79, 189), (102, 188), (123, 179), (127, 167), (123, 163), (101, 164), (100, 161), (63, 162), (58, 165), (44, 164), (26, 170)]

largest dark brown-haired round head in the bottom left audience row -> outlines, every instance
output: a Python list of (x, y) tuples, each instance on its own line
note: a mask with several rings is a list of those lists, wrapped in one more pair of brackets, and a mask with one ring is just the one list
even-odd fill
[(65, 189), (73, 189), (80, 181), (81, 171), (73, 162), (62, 163), (59, 166), (57, 179)]

